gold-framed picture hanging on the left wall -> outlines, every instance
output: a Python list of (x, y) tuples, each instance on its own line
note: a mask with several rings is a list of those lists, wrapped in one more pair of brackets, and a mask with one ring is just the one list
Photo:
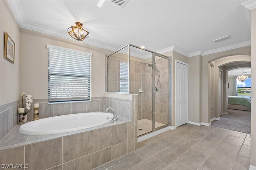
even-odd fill
[(15, 56), (15, 43), (12, 41), (12, 38), (5, 32), (4, 36), (4, 58), (14, 63)]

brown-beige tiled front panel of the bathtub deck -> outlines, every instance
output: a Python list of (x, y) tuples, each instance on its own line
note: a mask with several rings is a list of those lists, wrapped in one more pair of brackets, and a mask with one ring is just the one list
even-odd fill
[(128, 140), (134, 130), (128, 123), (134, 124), (126, 122), (2, 150), (0, 164), (28, 164), (28, 169), (38, 170), (90, 170), (134, 151), (134, 138)]

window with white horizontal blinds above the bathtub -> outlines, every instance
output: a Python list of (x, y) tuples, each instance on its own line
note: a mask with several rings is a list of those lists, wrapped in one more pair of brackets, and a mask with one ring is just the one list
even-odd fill
[(53, 45), (47, 48), (49, 102), (90, 100), (92, 54)]

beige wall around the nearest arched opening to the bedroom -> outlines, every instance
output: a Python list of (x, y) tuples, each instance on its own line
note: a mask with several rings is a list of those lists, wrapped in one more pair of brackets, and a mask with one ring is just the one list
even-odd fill
[(250, 46), (222, 51), (219, 53), (202, 56), (202, 82), (201, 82), (201, 101), (202, 101), (202, 122), (210, 123), (210, 62), (216, 59), (231, 55), (250, 55)]

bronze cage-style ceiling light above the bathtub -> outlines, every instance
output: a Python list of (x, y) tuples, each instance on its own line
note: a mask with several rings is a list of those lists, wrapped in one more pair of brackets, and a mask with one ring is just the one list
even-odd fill
[(82, 23), (76, 22), (76, 26), (71, 26), (68, 28), (68, 34), (75, 40), (83, 41), (85, 38), (89, 37), (90, 32), (84, 30), (82, 26)]

